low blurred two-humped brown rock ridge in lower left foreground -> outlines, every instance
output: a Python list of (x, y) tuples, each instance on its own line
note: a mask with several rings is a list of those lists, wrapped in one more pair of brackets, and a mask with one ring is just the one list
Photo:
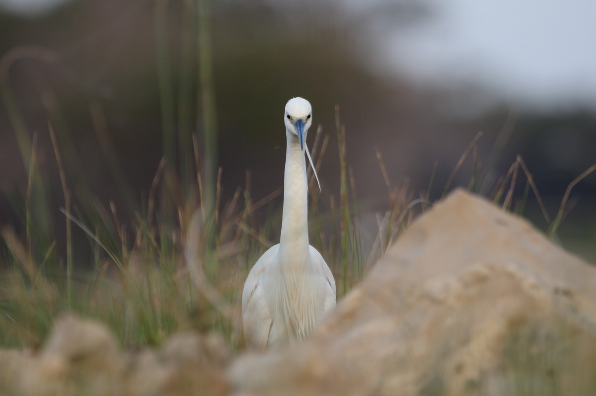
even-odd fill
[(228, 355), (221, 336), (197, 334), (125, 353), (106, 326), (66, 314), (38, 353), (0, 350), (0, 394), (223, 396)]

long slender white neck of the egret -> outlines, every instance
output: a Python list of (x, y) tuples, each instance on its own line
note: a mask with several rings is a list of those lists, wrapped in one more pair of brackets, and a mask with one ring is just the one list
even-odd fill
[[(284, 210), (281, 220), (280, 252), (302, 261), (308, 247), (308, 187), (304, 152), (298, 138), (288, 131), (285, 150)], [(306, 142), (305, 142), (306, 143)]]

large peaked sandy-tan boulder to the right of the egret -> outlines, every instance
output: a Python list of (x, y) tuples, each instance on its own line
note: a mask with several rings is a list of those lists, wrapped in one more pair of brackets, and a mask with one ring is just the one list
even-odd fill
[(299, 347), (241, 357), (234, 396), (592, 394), (596, 268), (455, 191)]

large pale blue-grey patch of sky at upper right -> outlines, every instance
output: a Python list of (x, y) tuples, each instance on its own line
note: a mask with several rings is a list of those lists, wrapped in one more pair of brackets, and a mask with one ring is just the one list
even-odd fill
[(596, 109), (596, 1), (426, 1), (429, 21), (383, 37), (384, 67), (543, 109)]

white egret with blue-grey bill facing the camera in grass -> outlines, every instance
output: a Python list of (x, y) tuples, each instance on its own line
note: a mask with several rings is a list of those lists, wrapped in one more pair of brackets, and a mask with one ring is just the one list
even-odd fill
[[(333, 274), (321, 253), (308, 243), (308, 180), (303, 150), (312, 166), (306, 147), (306, 133), (312, 124), (311, 103), (290, 99), (285, 105), (284, 123), (287, 147), (280, 243), (257, 260), (242, 293), (244, 338), (249, 347), (259, 349), (296, 344), (336, 304)], [(315, 177), (318, 183), (316, 172)]]

